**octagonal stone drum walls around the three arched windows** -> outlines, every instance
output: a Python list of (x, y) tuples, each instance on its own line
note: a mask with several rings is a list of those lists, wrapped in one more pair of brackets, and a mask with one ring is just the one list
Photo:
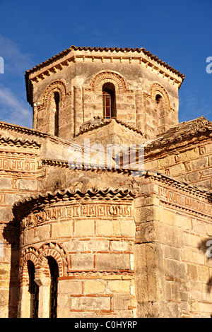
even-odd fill
[[(115, 88), (117, 119), (138, 127), (151, 138), (177, 124), (182, 78), (164, 67), (160, 72), (150, 62), (142, 61), (139, 54), (131, 55), (72, 51), (70, 59), (67, 56), (60, 60), (62, 64), (58, 59), (53, 66), (30, 73), (27, 85), (33, 128), (54, 134), (51, 100), (57, 92), (59, 137), (71, 140), (84, 121), (102, 118), (102, 85), (108, 82)], [(162, 97), (164, 110), (156, 105), (157, 93)]]

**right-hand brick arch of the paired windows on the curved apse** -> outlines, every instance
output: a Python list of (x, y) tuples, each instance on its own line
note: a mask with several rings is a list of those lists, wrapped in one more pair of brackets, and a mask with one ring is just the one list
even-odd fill
[(42, 245), (39, 249), (39, 257), (37, 261), (37, 268), (41, 273), (45, 273), (48, 277), (49, 275), (49, 266), (47, 263), (47, 257), (51, 256), (57, 261), (59, 276), (66, 276), (68, 270), (68, 259), (66, 252), (61, 247), (60, 244), (49, 242)]

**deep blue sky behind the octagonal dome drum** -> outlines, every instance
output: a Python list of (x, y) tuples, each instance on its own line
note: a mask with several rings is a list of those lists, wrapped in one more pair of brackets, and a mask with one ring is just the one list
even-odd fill
[(212, 121), (211, 0), (1, 0), (0, 120), (32, 126), (25, 70), (71, 45), (144, 47), (186, 76), (179, 121)]

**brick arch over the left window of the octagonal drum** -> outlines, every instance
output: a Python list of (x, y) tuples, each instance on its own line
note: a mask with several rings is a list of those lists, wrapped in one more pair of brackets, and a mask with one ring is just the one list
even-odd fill
[(54, 93), (59, 93), (59, 100), (64, 100), (66, 97), (66, 85), (62, 81), (54, 81), (50, 83), (43, 95), (44, 107), (49, 107)]

